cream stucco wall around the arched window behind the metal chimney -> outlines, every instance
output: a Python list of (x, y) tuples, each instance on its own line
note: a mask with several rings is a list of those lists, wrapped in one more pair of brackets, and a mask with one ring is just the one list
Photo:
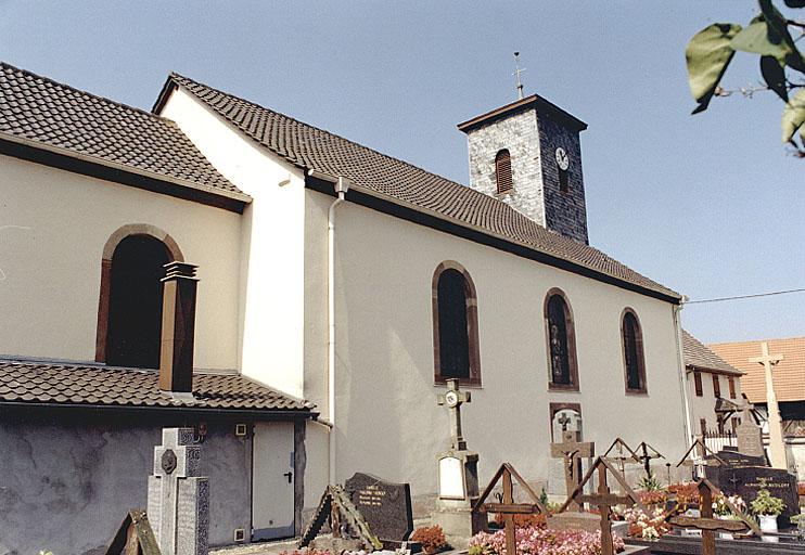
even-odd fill
[(241, 216), (0, 156), (0, 353), (92, 361), (103, 247), (126, 224), (199, 264), (195, 365), (238, 364)]

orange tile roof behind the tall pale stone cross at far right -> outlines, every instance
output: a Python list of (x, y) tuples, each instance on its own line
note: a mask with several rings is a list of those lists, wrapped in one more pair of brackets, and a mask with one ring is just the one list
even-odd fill
[[(770, 354), (782, 354), (772, 372), (778, 401), (805, 401), (805, 337), (766, 339)], [(757, 341), (720, 343), (710, 348), (734, 367), (745, 372), (741, 377), (741, 390), (750, 402), (766, 402), (766, 372), (757, 362), (749, 359), (759, 357), (763, 351)]]

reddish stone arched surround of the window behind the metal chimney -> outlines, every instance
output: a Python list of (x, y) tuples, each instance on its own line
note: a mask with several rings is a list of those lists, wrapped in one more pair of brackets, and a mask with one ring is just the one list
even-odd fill
[(179, 245), (167, 232), (149, 223), (129, 223), (115, 231), (103, 246), (101, 258), (101, 292), (98, 297), (98, 327), (95, 333), (95, 362), (106, 362), (106, 336), (108, 333), (108, 301), (112, 285), (112, 257), (120, 242), (131, 235), (150, 235), (161, 241), (170, 253), (173, 261), (183, 262)]

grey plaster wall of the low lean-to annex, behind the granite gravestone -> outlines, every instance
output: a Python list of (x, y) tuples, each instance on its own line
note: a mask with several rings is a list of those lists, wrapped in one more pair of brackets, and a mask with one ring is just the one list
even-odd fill
[[(103, 414), (82, 420), (0, 415), (0, 555), (103, 553), (129, 508), (144, 508), (163, 426)], [(251, 528), (251, 439), (207, 422), (202, 470), (210, 483), (210, 545)]]

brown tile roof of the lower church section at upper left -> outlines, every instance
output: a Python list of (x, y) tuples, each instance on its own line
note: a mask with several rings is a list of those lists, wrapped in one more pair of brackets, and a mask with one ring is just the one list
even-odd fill
[(248, 198), (169, 119), (0, 62), (3, 135)]

